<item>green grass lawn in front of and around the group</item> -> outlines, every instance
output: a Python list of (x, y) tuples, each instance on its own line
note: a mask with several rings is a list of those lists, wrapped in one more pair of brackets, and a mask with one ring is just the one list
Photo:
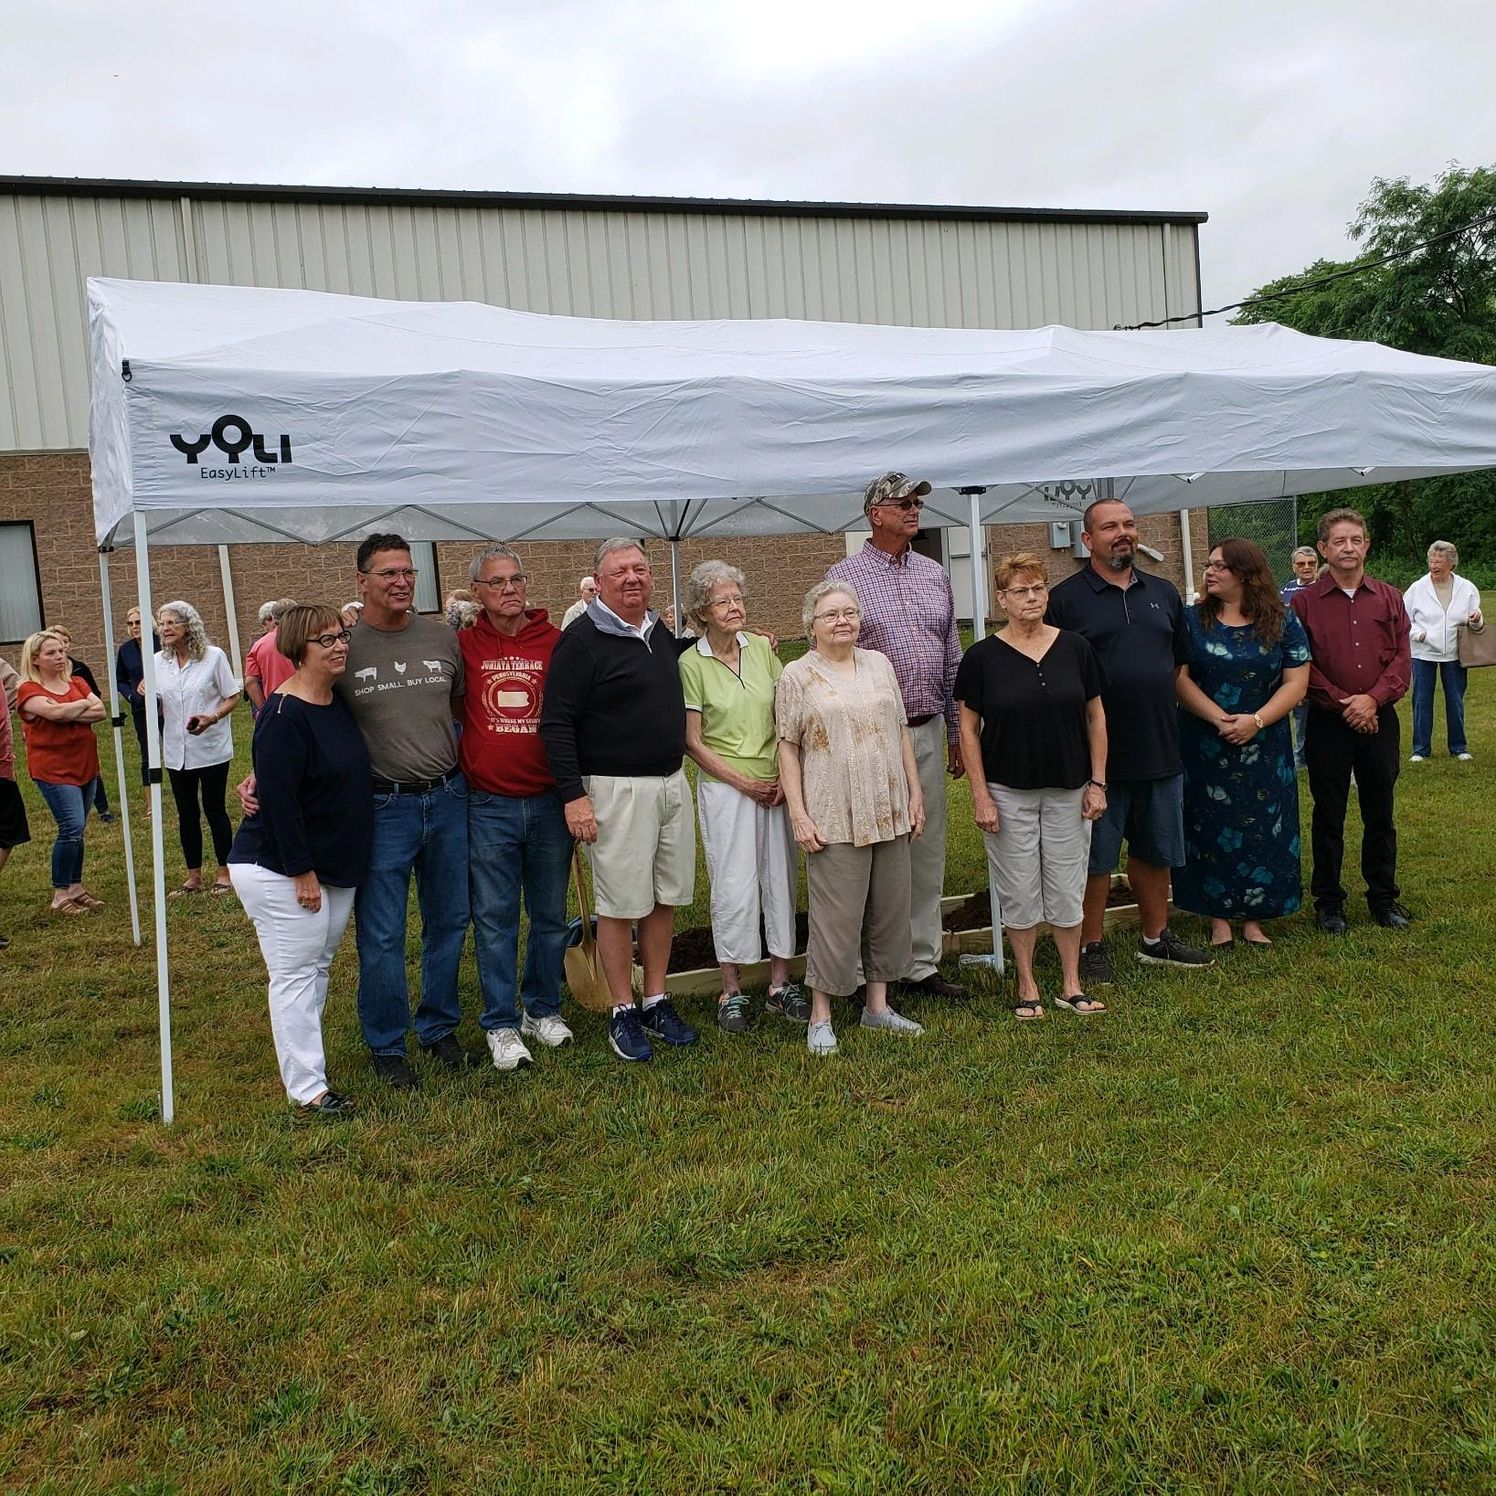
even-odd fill
[[(1475, 763), (1403, 773), (1403, 935), (1352, 899), (1346, 939), (1297, 916), (1194, 975), (1119, 935), (1106, 1017), (1016, 1025), (989, 986), (911, 1004), (922, 1041), (842, 1019), (833, 1061), (687, 1004), (702, 1043), (624, 1067), (571, 1011), (528, 1073), (402, 1097), (362, 1058), (350, 936), (328, 1038), (361, 1112), (323, 1126), (208, 898), (169, 910), (156, 1121), (118, 832), (88, 838), (108, 910), (48, 919), (22, 773), (0, 1489), (1496, 1489), (1493, 693)], [(951, 827), (969, 890), (963, 785)]]

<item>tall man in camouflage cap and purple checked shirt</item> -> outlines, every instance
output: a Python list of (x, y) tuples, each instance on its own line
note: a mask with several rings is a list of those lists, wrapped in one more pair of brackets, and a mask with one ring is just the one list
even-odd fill
[(945, 775), (960, 776), (957, 709), (951, 694), (960, 664), (956, 598), (938, 561), (910, 542), (920, 528), (929, 483), (884, 473), (863, 491), (872, 536), (857, 555), (838, 561), (830, 582), (850, 582), (862, 606), (857, 643), (889, 657), (904, 696), (925, 796), (925, 833), (910, 845), (910, 925), (914, 965), (904, 986), (938, 998), (966, 990), (939, 974), (939, 901), (945, 886)]

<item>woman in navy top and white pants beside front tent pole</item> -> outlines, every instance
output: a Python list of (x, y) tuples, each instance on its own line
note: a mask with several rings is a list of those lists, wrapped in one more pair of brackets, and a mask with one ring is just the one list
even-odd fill
[(229, 853), (229, 877), (269, 972), (281, 1082), (302, 1119), (353, 1110), (328, 1086), (322, 1044), (328, 974), (374, 836), (368, 749), (332, 693), (347, 669), (349, 637), (338, 610), (322, 603), (299, 603), (281, 618), (278, 646), (296, 670), (260, 708), (259, 809)]

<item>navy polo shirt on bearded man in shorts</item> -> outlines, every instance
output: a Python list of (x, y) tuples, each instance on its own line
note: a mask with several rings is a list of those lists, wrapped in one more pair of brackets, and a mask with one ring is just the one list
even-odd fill
[(1189, 660), (1189, 636), (1174, 585), (1134, 568), (1123, 591), (1088, 565), (1049, 594), (1046, 618), (1074, 630), (1101, 658), (1107, 779), (1182, 773), (1174, 670)]

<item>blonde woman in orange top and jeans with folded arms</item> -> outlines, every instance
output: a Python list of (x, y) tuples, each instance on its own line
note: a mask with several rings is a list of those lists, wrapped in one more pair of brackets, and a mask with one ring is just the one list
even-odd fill
[(84, 887), (84, 821), (99, 778), (93, 724), (103, 702), (70, 673), (67, 645), (43, 628), (21, 646), (21, 684), (15, 693), (25, 739), (25, 766), (57, 821), (52, 842), (52, 913), (88, 914), (103, 908)]

